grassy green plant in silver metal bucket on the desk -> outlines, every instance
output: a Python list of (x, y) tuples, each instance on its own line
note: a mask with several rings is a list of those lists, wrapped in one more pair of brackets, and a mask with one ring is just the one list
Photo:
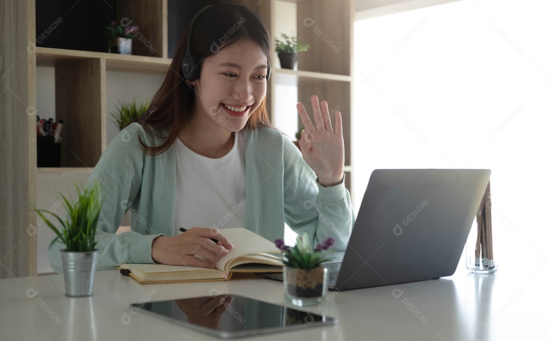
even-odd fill
[[(69, 297), (86, 297), (92, 295), (93, 278), (96, 272), (99, 250), (96, 247), (96, 228), (101, 211), (102, 201), (99, 181), (82, 191), (76, 186), (78, 198), (76, 202), (56, 192), (67, 212), (66, 218), (61, 219), (48, 210), (32, 208), (41, 219), (57, 234), (66, 249), (61, 250), (63, 259), (63, 275), (65, 277), (65, 295)], [(61, 227), (57, 228), (48, 219), (54, 216)]]

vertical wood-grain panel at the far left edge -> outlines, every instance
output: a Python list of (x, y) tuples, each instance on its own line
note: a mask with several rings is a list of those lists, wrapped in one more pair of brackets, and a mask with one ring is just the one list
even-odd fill
[(0, 278), (35, 276), (35, 3), (2, 0), (0, 15)]

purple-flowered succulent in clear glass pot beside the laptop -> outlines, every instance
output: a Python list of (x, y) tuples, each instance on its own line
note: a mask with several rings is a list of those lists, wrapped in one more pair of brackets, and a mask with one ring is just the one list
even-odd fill
[(335, 244), (335, 239), (330, 237), (312, 249), (307, 238), (307, 233), (302, 238), (298, 237), (294, 247), (284, 245), (283, 239), (275, 241), (285, 258), (285, 298), (296, 306), (320, 303), (328, 289), (328, 270), (320, 264), (331, 259), (326, 250)]

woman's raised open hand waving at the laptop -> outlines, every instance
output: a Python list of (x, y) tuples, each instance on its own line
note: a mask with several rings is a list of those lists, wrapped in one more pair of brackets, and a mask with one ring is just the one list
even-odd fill
[(318, 176), (318, 182), (324, 187), (337, 185), (343, 179), (345, 164), (341, 113), (335, 112), (333, 131), (326, 100), (319, 104), (318, 97), (313, 95), (311, 104), (316, 125), (312, 124), (303, 104), (299, 102), (297, 105), (301, 122), (305, 127), (305, 131), (301, 132), (299, 147), (303, 159)]

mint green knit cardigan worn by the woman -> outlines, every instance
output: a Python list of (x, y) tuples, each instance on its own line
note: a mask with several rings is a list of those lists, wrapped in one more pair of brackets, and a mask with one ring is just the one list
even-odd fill
[[(101, 185), (103, 208), (97, 226), (97, 270), (123, 263), (154, 263), (151, 244), (175, 232), (176, 154), (143, 152), (139, 137), (160, 143), (137, 123), (124, 128), (109, 144), (91, 175)], [(247, 132), (244, 227), (275, 241), (284, 236), (284, 222), (298, 234), (306, 232), (315, 245), (328, 237), (345, 250), (355, 222), (344, 184), (323, 187), (290, 139), (274, 128)], [(206, 208), (207, 209), (207, 208)], [(131, 231), (115, 234), (130, 210)], [(49, 261), (61, 273), (57, 237), (49, 244)]]

